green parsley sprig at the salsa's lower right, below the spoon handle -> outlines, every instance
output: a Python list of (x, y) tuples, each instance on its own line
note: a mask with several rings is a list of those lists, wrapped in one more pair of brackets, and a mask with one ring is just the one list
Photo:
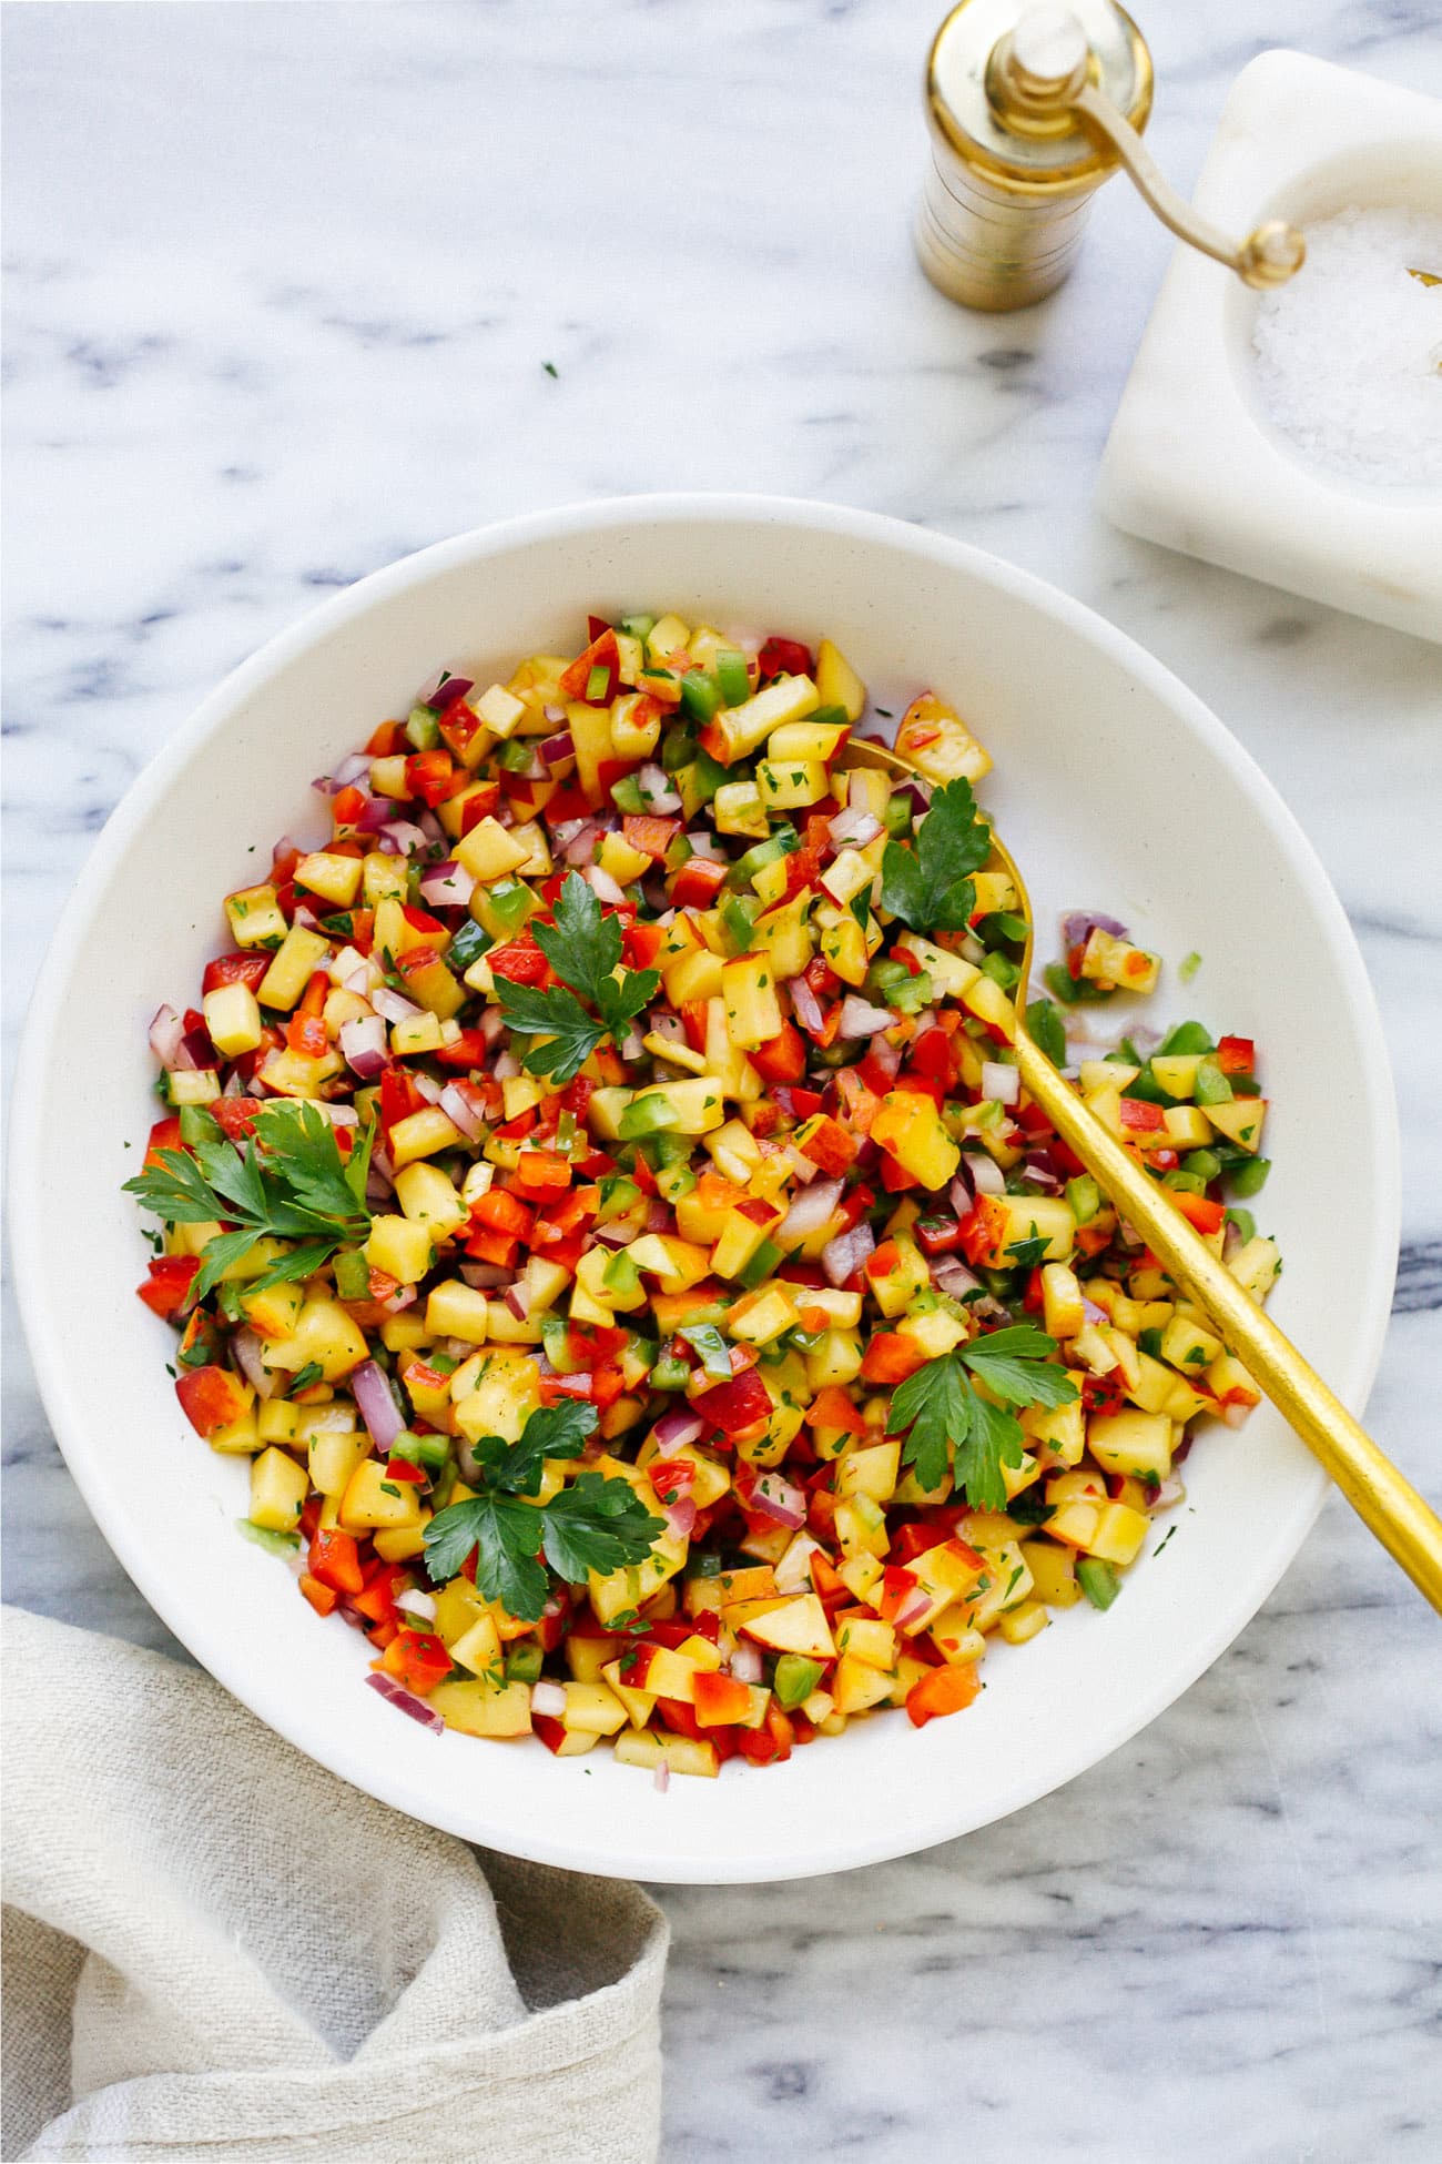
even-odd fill
[[(964, 1489), (973, 1510), (1005, 1510), (1001, 1467), (1023, 1461), (1023, 1428), (1007, 1409), (1070, 1404), (1077, 1396), (1066, 1368), (1049, 1359), (1055, 1350), (1055, 1337), (1031, 1322), (1018, 1322), (943, 1352), (908, 1374), (891, 1398), (886, 1433), (910, 1430), (902, 1459), (917, 1467), (921, 1487), (940, 1487), (953, 1463), (956, 1485)], [(973, 1376), (1001, 1404), (984, 1398), (973, 1387)]]

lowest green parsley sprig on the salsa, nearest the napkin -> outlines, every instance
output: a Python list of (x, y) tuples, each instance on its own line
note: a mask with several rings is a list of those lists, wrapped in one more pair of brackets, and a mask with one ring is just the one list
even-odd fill
[(536, 1623), (551, 1591), (547, 1562), (566, 1584), (579, 1584), (588, 1571), (610, 1575), (649, 1556), (666, 1521), (651, 1517), (627, 1480), (586, 1472), (545, 1504), (525, 1500), (540, 1493), (545, 1459), (579, 1459), (595, 1426), (592, 1404), (566, 1400), (532, 1413), (519, 1443), (499, 1435), (471, 1443), (484, 1489), (437, 1510), (426, 1526), (430, 1582), (445, 1584), (476, 1549), (476, 1591), (521, 1623)]

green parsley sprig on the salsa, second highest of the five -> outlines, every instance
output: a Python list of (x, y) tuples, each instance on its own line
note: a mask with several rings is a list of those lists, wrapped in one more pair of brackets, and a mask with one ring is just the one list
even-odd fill
[(560, 985), (540, 989), (497, 976), (495, 991), (510, 1028), (540, 1039), (521, 1054), (521, 1065), (534, 1076), (573, 1082), (603, 1037), (618, 1045), (629, 1034), (662, 980), (655, 969), (614, 976), (620, 918), (603, 913), (579, 872), (571, 872), (560, 889), (556, 922), (536, 924), (534, 937)]

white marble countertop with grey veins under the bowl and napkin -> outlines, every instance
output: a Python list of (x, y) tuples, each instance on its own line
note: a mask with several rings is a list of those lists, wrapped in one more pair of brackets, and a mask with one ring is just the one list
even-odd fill
[[(1440, 656), (1098, 522), (1167, 242), (1116, 186), (1046, 307), (940, 301), (908, 247), (938, 15), (9, 11), (6, 1056), (117, 796), (333, 586), (579, 496), (891, 511), (1144, 641), (1321, 850), (1405, 1127), (1371, 1420), (1436, 1493)], [(1442, 89), (1429, 0), (1157, 0), (1146, 28), (1183, 184), (1263, 45)], [(6, 1352), (6, 1597), (160, 1642), (9, 1305)], [(1066, 1792), (845, 1878), (664, 1894), (668, 2158), (1436, 2158), (1438, 1645), (1332, 1502), (1230, 1653)]]

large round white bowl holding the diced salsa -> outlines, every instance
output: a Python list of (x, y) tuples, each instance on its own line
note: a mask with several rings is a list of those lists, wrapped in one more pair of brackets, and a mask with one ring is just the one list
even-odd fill
[(638, 498), (463, 535), (337, 595), (205, 699), (99, 837), (39, 978), (13, 1106), (15, 1281), (102, 1532), (175, 1636), (281, 1736), (519, 1857), (627, 1878), (796, 1878), (1001, 1818), (1170, 1705), (1256, 1612), (1321, 1504), (1321, 1472), (1271, 1409), (1200, 1439), (1176, 1539), (1116, 1608), (999, 1645), (966, 1714), (923, 1731), (880, 1716), (787, 1766), (657, 1794), (603, 1751), (437, 1738), (365, 1690), (361, 1640), (236, 1534), (244, 1463), (195, 1437), (164, 1370), (173, 1337), (132, 1294), (147, 1249), (121, 1182), (156, 1112), (145, 1028), (160, 1000), (195, 995), (225, 944), (221, 894), (268, 863), (281, 831), (316, 829), (311, 775), (404, 710), (439, 662), (506, 673), (538, 647), (575, 647), (588, 608), (642, 606), (830, 634), (873, 688), (934, 686), (997, 757), (984, 794), (1042, 928), (1057, 909), (1100, 907), (1172, 963), (1204, 952), (1191, 989), (1167, 972), (1154, 1013), (1258, 1039), (1276, 1158), (1260, 1210), (1286, 1253), (1276, 1316), (1362, 1409), (1397, 1259), (1397, 1119), (1362, 961), (1276, 790), (1165, 669), (1040, 580), (891, 519), (765, 498)]

